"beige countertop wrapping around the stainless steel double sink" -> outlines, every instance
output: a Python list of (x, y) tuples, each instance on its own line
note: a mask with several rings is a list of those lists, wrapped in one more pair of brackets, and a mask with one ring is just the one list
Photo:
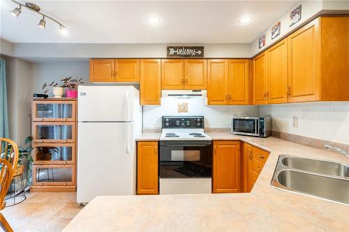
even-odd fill
[(347, 157), (273, 137), (207, 134), (271, 151), (251, 193), (98, 196), (64, 231), (349, 231), (349, 206), (270, 185), (281, 154), (349, 163)]

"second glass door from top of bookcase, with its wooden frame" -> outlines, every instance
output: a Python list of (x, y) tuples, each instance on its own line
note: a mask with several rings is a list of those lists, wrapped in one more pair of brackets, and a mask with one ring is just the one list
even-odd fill
[(33, 123), (34, 143), (73, 143), (75, 123)]

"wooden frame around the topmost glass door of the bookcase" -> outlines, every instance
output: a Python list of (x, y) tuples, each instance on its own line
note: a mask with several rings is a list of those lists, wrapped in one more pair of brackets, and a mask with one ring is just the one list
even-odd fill
[[(38, 109), (38, 104), (65, 104), (71, 105), (71, 118), (37, 118), (36, 117), (36, 111)], [(32, 105), (31, 105), (31, 109), (32, 109), (32, 117), (33, 117), (33, 121), (42, 121), (42, 122), (75, 122), (76, 121), (76, 100), (33, 100)]]

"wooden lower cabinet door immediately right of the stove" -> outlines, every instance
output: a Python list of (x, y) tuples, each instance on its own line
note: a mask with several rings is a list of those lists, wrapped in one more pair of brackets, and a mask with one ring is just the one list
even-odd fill
[(240, 142), (214, 141), (214, 193), (240, 192)]

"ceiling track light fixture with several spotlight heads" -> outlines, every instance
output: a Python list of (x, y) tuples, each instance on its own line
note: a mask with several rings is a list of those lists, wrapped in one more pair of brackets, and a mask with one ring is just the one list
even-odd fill
[(31, 10), (33, 11), (34, 13), (37, 13), (39, 15), (42, 15), (43, 16), (43, 19), (40, 20), (40, 22), (38, 23), (38, 26), (40, 26), (41, 28), (45, 29), (46, 28), (46, 21), (45, 21), (45, 18), (47, 19), (50, 19), (52, 20), (53, 22), (57, 23), (59, 25), (59, 32), (63, 35), (63, 36), (67, 36), (68, 35), (68, 31), (66, 29), (66, 26), (64, 26), (64, 24), (62, 24), (61, 22), (57, 21), (57, 20), (54, 20), (54, 18), (48, 16), (48, 15), (45, 15), (43, 13), (40, 12), (40, 7), (37, 6), (36, 4), (34, 3), (25, 3), (25, 4), (22, 4), (18, 1), (15, 1), (15, 0), (11, 0), (13, 1), (14, 3), (18, 4), (18, 8), (14, 8), (13, 10), (10, 11), (10, 13), (15, 16), (15, 17), (18, 17), (20, 15), (20, 13), (22, 12), (22, 7), (23, 8), (26, 8), (28, 10)]

